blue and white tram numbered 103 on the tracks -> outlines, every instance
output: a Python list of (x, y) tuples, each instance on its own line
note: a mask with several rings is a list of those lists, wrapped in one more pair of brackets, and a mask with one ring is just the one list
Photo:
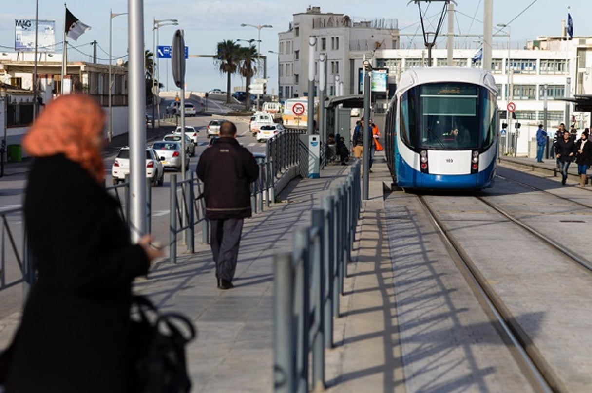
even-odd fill
[(401, 75), (385, 121), (385, 153), (404, 189), (482, 189), (497, 159), (496, 82), (490, 72), (425, 67)]

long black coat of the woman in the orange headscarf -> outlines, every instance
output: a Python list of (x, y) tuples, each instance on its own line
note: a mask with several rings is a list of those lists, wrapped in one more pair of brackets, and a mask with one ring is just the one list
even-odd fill
[(35, 159), (24, 214), (38, 271), (14, 342), (10, 392), (128, 392), (131, 282), (149, 268), (119, 205), (62, 154)]

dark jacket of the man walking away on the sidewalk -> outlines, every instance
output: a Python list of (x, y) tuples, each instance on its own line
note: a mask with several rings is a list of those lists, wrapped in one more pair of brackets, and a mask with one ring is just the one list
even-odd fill
[(235, 138), (221, 137), (205, 149), (195, 172), (204, 182), (206, 218), (251, 217), (249, 184), (259, 177), (259, 165)]

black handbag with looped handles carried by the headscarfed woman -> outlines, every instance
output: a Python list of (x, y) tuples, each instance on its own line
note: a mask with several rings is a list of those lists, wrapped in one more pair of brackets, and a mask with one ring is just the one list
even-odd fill
[(185, 393), (191, 389), (185, 345), (195, 327), (184, 315), (160, 313), (147, 297), (132, 297), (131, 345), (135, 366), (134, 392)]

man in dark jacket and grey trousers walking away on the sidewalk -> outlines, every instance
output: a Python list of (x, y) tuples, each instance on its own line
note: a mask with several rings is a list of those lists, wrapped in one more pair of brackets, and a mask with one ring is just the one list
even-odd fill
[(195, 172), (204, 182), (205, 218), (210, 223), (218, 288), (234, 288), (243, 220), (252, 214), (250, 183), (258, 179), (259, 165), (253, 153), (236, 140), (236, 125), (224, 121), (220, 138), (201, 154)]

